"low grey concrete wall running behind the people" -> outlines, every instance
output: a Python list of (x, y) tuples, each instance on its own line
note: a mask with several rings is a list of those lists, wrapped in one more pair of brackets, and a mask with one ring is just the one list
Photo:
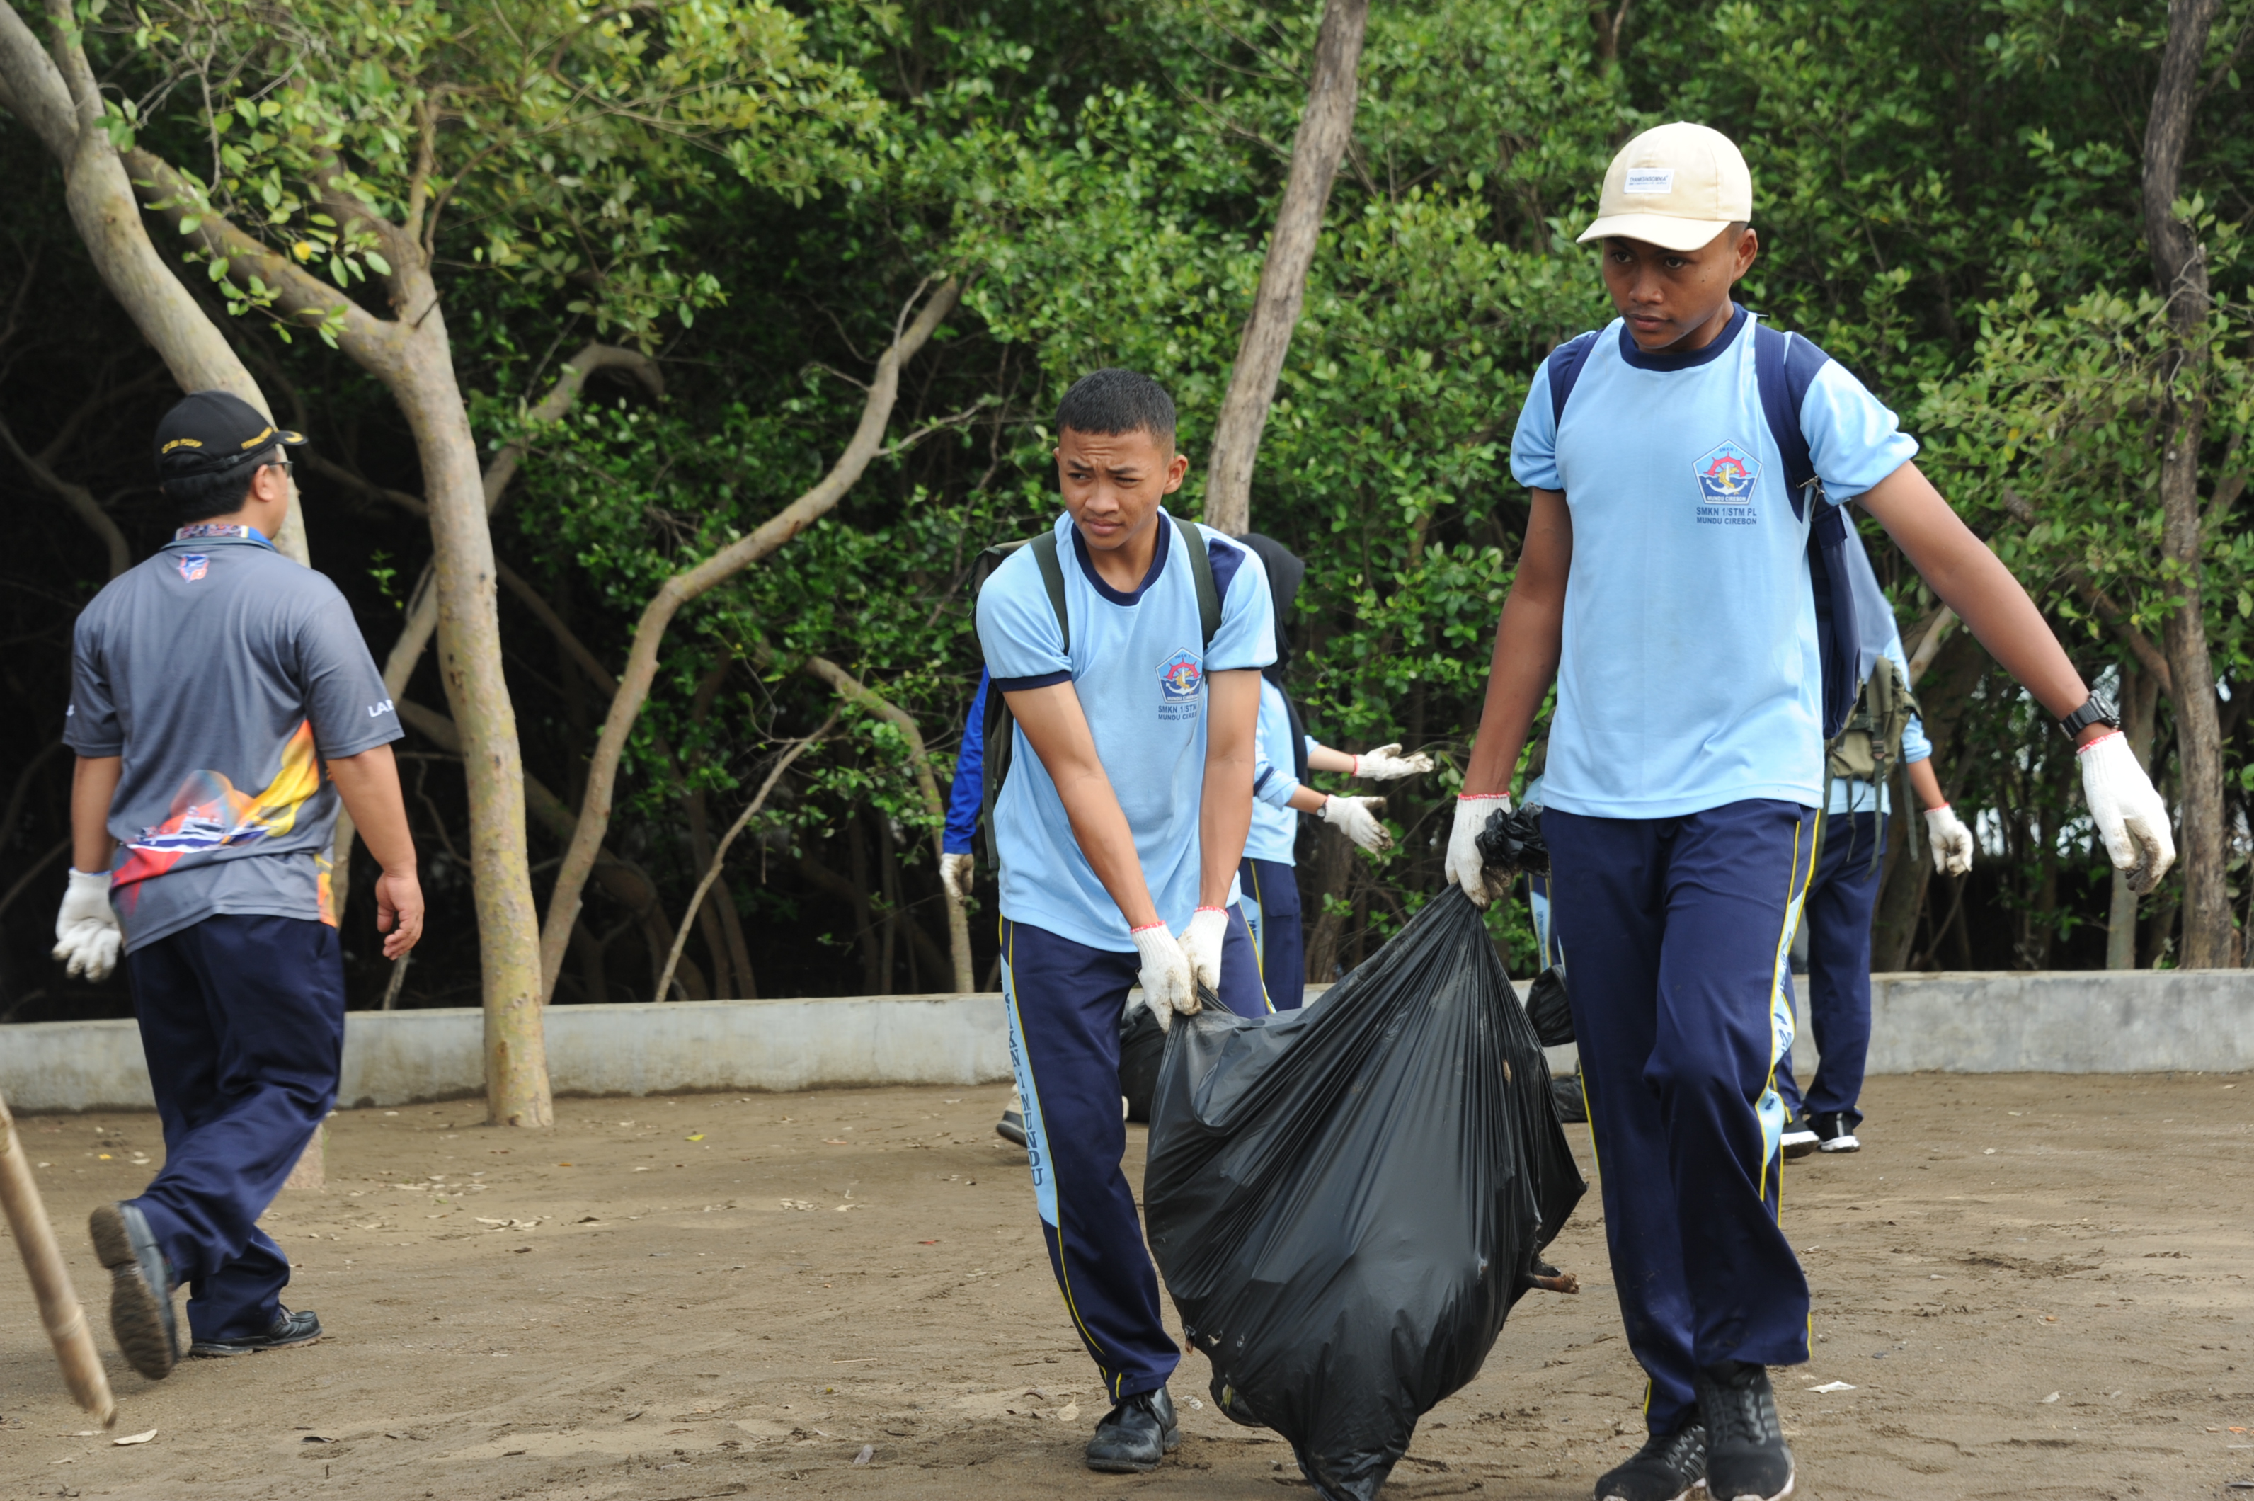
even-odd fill
[[(1805, 994), (1805, 978), (1799, 980)], [(1323, 987), (1310, 987), (1310, 998)], [(1814, 1066), (1801, 1005), (1794, 1066)], [(340, 1102), (482, 1093), (476, 1010), (352, 1012)], [(1553, 1050), (1558, 1068), (1571, 1050)], [(559, 1095), (996, 1084), (1010, 1077), (1001, 996), (848, 996), (559, 1005)], [(2236, 1073), (2254, 1068), (2254, 971), (1882, 974), (1871, 1073)], [(0, 1025), (0, 1093), (18, 1111), (149, 1109), (131, 1021)]]

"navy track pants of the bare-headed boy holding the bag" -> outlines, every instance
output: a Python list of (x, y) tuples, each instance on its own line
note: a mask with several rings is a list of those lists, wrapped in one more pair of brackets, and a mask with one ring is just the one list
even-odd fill
[[(1120, 1158), (1120, 1010), (1136, 956), (1089, 949), (1023, 922), (1001, 922), (1001, 985), (1010, 1066), (1026, 1098), (1032, 1197), (1073, 1332), (1111, 1402), (1159, 1391), (1181, 1350), (1159, 1314), (1159, 1273), (1143, 1244)], [(1260, 962), (1244, 915), (1231, 911), (1222, 1003), (1264, 1016)]]

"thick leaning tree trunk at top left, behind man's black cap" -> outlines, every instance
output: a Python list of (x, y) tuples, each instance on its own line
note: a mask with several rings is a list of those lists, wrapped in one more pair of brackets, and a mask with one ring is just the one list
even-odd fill
[[(165, 370), (192, 390), (234, 392), (273, 421), (273, 406), (241, 356), (158, 255), (133, 198), (133, 180), (101, 128), (101, 92), (79, 41), (70, 0), (47, 0), (54, 56), (41, 50), (16, 7), (0, 5), (0, 108), (23, 119), (63, 167), (63, 203), (101, 284), (140, 329)], [(298, 487), (273, 539), (275, 552), (309, 563)]]

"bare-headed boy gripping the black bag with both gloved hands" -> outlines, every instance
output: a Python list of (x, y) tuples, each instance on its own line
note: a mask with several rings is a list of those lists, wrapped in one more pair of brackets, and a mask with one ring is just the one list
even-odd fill
[(1141, 983), (1161, 1025), (1199, 987), (1269, 1012), (1235, 904), (1276, 627), (1251, 552), (1161, 507), (1186, 469), (1156, 381), (1084, 376), (1057, 406), (1066, 514), (978, 590), (1012, 721), (994, 796), (1010, 1062), (1048, 1260), (1113, 1404), (1086, 1449), (1109, 1472), (1181, 1442), (1181, 1350), (1120, 1172), (1120, 1010)]

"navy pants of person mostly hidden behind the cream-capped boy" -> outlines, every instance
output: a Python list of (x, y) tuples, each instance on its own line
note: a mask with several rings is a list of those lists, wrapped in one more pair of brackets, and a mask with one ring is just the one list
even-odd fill
[[(1873, 861), (1871, 854), (1878, 854)], [(1805, 1102), (1792, 1053), (1776, 1086), (1792, 1111), (1842, 1111), (1862, 1125), (1862, 1071), (1871, 1059), (1871, 913), (1887, 865), (1887, 820), (1878, 814), (1826, 814), (1817, 879), (1808, 886), (1808, 1023), (1817, 1034), (1817, 1077)]]

